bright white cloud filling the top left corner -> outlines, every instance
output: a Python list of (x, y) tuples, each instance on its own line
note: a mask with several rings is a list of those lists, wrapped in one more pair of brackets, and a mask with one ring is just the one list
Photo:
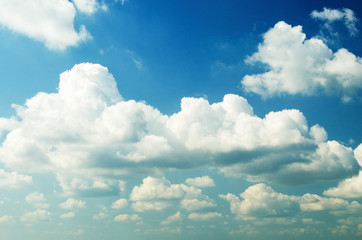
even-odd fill
[(91, 38), (85, 26), (74, 30), (74, 5), (68, 0), (1, 0), (0, 24), (44, 42), (49, 49), (64, 50)]

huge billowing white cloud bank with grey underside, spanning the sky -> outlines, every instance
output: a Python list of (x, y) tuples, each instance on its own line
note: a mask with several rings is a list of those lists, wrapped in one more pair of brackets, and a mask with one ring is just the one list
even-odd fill
[(0, 161), (17, 171), (55, 172), (69, 193), (119, 191), (123, 176), (170, 168), (213, 166), (282, 184), (360, 169), (351, 148), (327, 141), (325, 130), (309, 127), (298, 110), (260, 118), (246, 99), (229, 94), (214, 104), (183, 98), (181, 111), (167, 116), (124, 100), (98, 64), (75, 65), (60, 75), (58, 92), (40, 92), (14, 108), (17, 116), (0, 122), (8, 132)]

